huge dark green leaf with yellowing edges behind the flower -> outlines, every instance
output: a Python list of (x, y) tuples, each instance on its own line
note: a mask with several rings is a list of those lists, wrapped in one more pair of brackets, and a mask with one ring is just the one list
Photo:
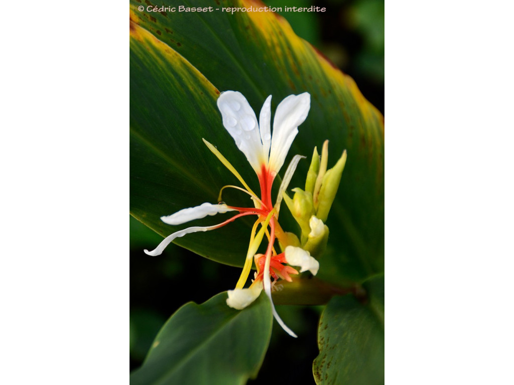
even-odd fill
[[(319, 277), (336, 283), (362, 281), (381, 272), (381, 114), (362, 97), (352, 79), (296, 36), (282, 17), (270, 12), (221, 11), (258, 3), (182, 4), (219, 10), (140, 12), (139, 6), (146, 9), (153, 3), (131, 2), (131, 214), (167, 236), (178, 227), (164, 225), (160, 216), (215, 202), (219, 188), (237, 184), (201, 138), (215, 144), (250, 187), (258, 190), (253, 170), (222, 126), (215, 103), (218, 92), (241, 91), (258, 112), (268, 94), (273, 95), (274, 109), (287, 95), (308, 91), (309, 116), (288, 159), (296, 153), (310, 157), (314, 146), (319, 148), (325, 139), (331, 141), (329, 166), (343, 149), (348, 152), (327, 221), (331, 237)], [(303, 186), (307, 168), (307, 161), (300, 163), (291, 187)], [(230, 204), (248, 206), (245, 199), (224, 196)], [(220, 218), (208, 218), (194, 225), (219, 222)], [(188, 235), (177, 243), (214, 260), (242, 265), (250, 227), (251, 221), (242, 220), (215, 232)]]

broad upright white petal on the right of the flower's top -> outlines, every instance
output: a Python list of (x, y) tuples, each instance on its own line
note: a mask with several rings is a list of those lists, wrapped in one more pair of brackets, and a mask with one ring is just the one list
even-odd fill
[(273, 137), (269, 153), (271, 170), (279, 171), (298, 133), (298, 126), (307, 118), (310, 109), (310, 94), (289, 95), (277, 107), (273, 118)]

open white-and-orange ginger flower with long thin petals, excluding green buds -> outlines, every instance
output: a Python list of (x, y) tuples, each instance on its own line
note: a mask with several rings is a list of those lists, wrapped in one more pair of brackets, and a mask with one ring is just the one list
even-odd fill
[[(244, 309), (259, 297), (264, 289), (270, 299), (273, 316), (288, 334), (296, 337), (295, 333), (284, 324), (274, 309), (271, 292), (278, 280), (291, 281), (290, 274), (299, 273), (291, 266), (299, 266), (300, 272), (309, 270), (314, 275), (318, 272), (319, 268), (318, 261), (311, 257), (308, 252), (300, 247), (288, 245), (288, 238), (278, 222), (283, 192), (286, 190), (298, 162), (304, 157), (296, 155), (291, 160), (274, 204), (271, 199), (271, 186), (284, 164), (289, 148), (298, 133), (298, 126), (307, 118), (310, 109), (310, 95), (307, 92), (300, 95), (289, 95), (280, 102), (273, 118), (273, 134), (271, 134), (271, 95), (264, 102), (259, 115), (259, 122), (246, 98), (240, 92), (222, 92), (217, 100), (217, 106), (222, 114), (223, 125), (234, 139), (237, 147), (244, 153), (250, 166), (259, 178), (261, 187), (260, 197), (248, 187), (229, 161), (212, 144), (204, 139), (207, 147), (244, 187), (224, 186), (220, 191), (218, 201), (221, 201), (223, 189), (231, 187), (246, 192), (252, 199), (253, 207), (234, 207), (225, 203), (203, 203), (196, 207), (182, 209), (169, 216), (163, 216), (161, 217), (163, 222), (178, 225), (194, 219), (205, 218), (208, 215), (216, 215), (228, 211), (238, 212), (233, 217), (214, 226), (193, 226), (180, 230), (165, 238), (153, 251), (145, 250), (144, 252), (148, 255), (156, 256), (161, 254), (163, 249), (178, 237), (189, 233), (213, 230), (237, 218), (255, 215), (257, 219), (250, 234), (243, 272), (235, 285), (235, 289), (228, 291), (227, 304), (234, 309)], [(259, 225), (261, 227), (257, 231)], [(264, 235), (268, 239), (266, 252), (265, 254), (256, 254)], [(282, 253), (277, 253), (274, 247), (276, 239), (279, 239), (281, 245), (285, 248)], [(254, 279), (248, 288), (244, 288), (253, 260), (255, 260), (256, 266)], [(273, 281), (271, 281), (271, 278), (273, 278)]]

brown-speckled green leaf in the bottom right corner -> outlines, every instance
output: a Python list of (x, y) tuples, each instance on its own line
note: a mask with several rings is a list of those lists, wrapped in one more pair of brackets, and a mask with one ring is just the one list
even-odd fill
[(384, 380), (384, 277), (364, 284), (368, 303), (352, 295), (326, 305), (318, 330), (319, 356), (313, 372), (318, 385), (374, 385)]

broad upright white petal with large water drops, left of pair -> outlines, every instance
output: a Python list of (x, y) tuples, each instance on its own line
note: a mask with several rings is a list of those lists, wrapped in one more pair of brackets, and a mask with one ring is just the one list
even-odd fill
[(246, 98), (237, 91), (225, 91), (219, 95), (218, 109), (222, 113), (223, 125), (234, 138), (237, 148), (259, 173), (262, 159), (262, 142), (255, 112)]

